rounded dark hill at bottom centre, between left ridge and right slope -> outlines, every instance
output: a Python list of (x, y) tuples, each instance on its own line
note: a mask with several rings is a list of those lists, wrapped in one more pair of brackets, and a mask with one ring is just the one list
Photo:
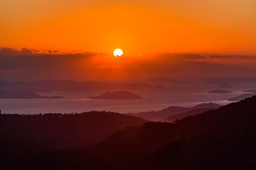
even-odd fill
[(116, 132), (95, 146), (94, 152), (102, 162), (132, 169), (137, 160), (145, 159), (185, 134), (179, 125), (171, 123), (145, 123), (129, 126)]

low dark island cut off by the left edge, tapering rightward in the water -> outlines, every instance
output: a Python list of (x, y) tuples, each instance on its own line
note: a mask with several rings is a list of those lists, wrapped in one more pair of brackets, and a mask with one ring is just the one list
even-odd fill
[(40, 96), (31, 92), (0, 91), (0, 98), (63, 98), (63, 96)]

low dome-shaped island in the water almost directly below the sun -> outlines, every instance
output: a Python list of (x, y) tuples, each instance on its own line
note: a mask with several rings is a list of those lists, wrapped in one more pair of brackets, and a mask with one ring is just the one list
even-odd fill
[(142, 98), (141, 96), (138, 96), (136, 94), (133, 94), (132, 92), (129, 91), (107, 91), (104, 94), (101, 94), (100, 96), (91, 96), (87, 97), (91, 99), (140, 99)]

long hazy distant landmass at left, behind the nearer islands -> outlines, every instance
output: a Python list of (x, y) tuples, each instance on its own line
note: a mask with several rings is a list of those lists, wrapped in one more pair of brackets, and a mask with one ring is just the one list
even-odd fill
[(71, 80), (46, 80), (46, 81), (0, 81), (1, 91), (94, 91), (94, 90), (127, 90), (151, 88), (146, 83), (118, 83), (107, 81), (71, 81)]

